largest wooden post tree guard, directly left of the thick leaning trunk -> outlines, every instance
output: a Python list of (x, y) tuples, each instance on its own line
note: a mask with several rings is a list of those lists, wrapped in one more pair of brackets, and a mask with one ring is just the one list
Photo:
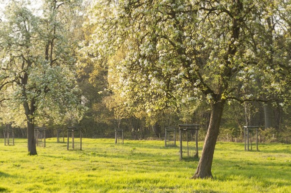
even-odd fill
[(199, 130), (199, 125), (198, 124), (179, 124), (179, 134), (180, 134), (180, 160), (183, 159), (183, 133), (186, 133), (186, 141), (187, 141), (187, 155), (190, 156), (189, 153), (189, 144), (191, 145), (192, 143), (189, 143), (189, 136), (192, 139), (193, 142), (193, 136), (195, 133), (195, 153), (194, 153), (194, 158), (198, 158), (198, 130)]

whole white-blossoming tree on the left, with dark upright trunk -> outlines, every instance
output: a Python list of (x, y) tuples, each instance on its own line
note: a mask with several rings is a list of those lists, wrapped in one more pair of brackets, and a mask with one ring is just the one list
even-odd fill
[(0, 22), (0, 82), (6, 83), (0, 116), (16, 125), (26, 121), (29, 155), (37, 154), (35, 124), (77, 122), (84, 112), (69, 22), (79, 2), (45, 0), (33, 11), (29, 1), (13, 0)]

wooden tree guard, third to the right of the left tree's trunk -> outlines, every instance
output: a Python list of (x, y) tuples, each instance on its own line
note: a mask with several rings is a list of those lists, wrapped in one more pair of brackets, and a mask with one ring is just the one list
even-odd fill
[(67, 150), (69, 150), (69, 144), (70, 144), (70, 136), (71, 136), (71, 144), (72, 149), (79, 149), (82, 150), (82, 129), (83, 127), (79, 126), (73, 126), (73, 127), (67, 127)]

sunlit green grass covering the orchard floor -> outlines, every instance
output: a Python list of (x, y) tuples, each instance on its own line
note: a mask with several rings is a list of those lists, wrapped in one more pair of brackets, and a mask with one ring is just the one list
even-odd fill
[(37, 147), (38, 156), (28, 156), (26, 140), (4, 146), (0, 139), (0, 192), (291, 192), (291, 145), (259, 144), (260, 152), (245, 152), (244, 144), (219, 142), (214, 179), (206, 180), (190, 179), (198, 160), (185, 156), (186, 147), (179, 161), (179, 147), (165, 148), (163, 141), (83, 139), (82, 148), (67, 151), (51, 138)]

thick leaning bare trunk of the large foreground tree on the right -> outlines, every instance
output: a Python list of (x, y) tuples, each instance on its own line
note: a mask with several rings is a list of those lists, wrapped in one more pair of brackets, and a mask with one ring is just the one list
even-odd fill
[(210, 124), (205, 137), (204, 146), (199, 160), (197, 170), (192, 178), (213, 178), (211, 166), (214, 149), (219, 134), (219, 126), (223, 113), (224, 102), (217, 102), (212, 105)]

